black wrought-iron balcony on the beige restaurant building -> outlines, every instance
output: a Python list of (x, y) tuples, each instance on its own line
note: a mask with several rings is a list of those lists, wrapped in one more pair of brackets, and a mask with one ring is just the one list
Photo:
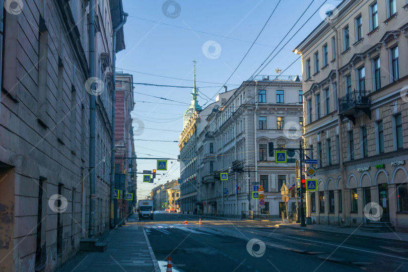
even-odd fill
[(338, 109), (340, 116), (349, 118), (353, 124), (356, 124), (356, 116), (363, 111), (371, 119), (371, 98), (370, 91), (356, 91), (347, 94), (338, 99)]

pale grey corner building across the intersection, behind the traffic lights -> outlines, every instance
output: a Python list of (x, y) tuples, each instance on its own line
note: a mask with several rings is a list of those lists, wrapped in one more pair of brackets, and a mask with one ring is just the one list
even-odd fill
[[(281, 215), (286, 211), (281, 188), (295, 187), (293, 152), (276, 163), (276, 148), (299, 148), (303, 125), (302, 83), (296, 76), (257, 76), (244, 82), (217, 110), (198, 137), (202, 213), (241, 217), (248, 211)], [(269, 156), (271, 155), (271, 156)], [(228, 180), (220, 178), (228, 173)], [(253, 198), (254, 186), (264, 188), (265, 207)], [(293, 186), (292, 186), (293, 185)], [(295, 190), (293, 190), (294, 192)], [(291, 193), (289, 212), (296, 211)]]

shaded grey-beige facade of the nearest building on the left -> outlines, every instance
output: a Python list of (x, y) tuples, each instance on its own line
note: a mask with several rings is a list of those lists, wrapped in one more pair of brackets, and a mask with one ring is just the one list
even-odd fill
[[(89, 10), (89, 1), (45, 0), (24, 2), (20, 13), (2, 11), (0, 270), (55, 270), (88, 237)], [(97, 1), (94, 10), (95, 76), (104, 83), (95, 116), (99, 236), (109, 228), (110, 34), (121, 1)]]

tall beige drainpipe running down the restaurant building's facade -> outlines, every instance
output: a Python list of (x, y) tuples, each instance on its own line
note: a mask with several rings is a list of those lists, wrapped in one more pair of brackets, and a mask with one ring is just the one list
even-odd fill
[[(340, 90), (340, 75), (339, 75), (339, 68), (340, 68), (340, 54), (339, 54), (339, 38), (338, 38), (338, 29), (329, 21), (330, 19), (326, 17), (327, 22), (331, 25), (335, 35), (336, 35), (336, 88), (337, 88), (337, 97), (336, 97), (336, 103), (338, 103), (338, 94)], [(347, 214), (347, 205), (346, 205), (346, 180), (345, 180), (345, 170), (344, 170), (344, 158), (343, 158), (343, 141), (342, 141), (342, 135), (343, 135), (343, 128), (342, 128), (342, 118), (340, 117), (340, 107), (337, 105), (337, 126), (338, 126), (338, 135), (339, 135), (339, 141), (338, 141), (338, 149), (339, 149), (339, 159), (340, 159), (340, 172), (342, 175), (342, 181), (343, 181), (343, 193), (342, 193), (342, 212), (343, 212), (343, 224), (346, 225), (346, 214)], [(338, 187), (337, 187), (338, 188)]]

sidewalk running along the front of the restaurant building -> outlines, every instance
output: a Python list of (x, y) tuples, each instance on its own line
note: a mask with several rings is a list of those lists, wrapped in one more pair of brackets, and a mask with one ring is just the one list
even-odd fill
[(404, 232), (364, 232), (356, 227), (337, 227), (337, 226), (327, 226), (327, 225), (318, 225), (312, 224), (307, 225), (306, 227), (301, 227), (300, 224), (291, 223), (291, 224), (277, 224), (279, 228), (287, 229), (298, 229), (306, 230), (313, 232), (320, 232), (333, 235), (345, 235), (355, 238), (367, 238), (372, 240), (379, 240), (385, 242), (399, 242), (406, 243), (408, 242), (408, 233)]

